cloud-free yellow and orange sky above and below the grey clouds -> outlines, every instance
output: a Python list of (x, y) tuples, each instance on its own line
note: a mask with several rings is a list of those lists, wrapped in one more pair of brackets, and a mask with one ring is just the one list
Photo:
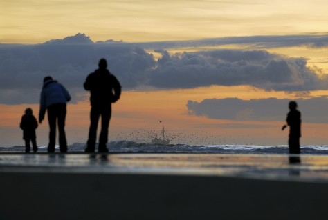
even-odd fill
[[(291, 10), (293, 8), (293, 10)], [(114, 39), (126, 42), (178, 41), (212, 37), (304, 34), (327, 32), (328, 1), (48, 1), (15, 0), (0, 2), (0, 43), (44, 43), (76, 33), (86, 33), (93, 41)], [(245, 47), (245, 46), (244, 46)], [(225, 45), (217, 48), (237, 48)], [(250, 46), (251, 48), (251, 46)], [(167, 48), (169, 52), (200, 48)], [(201, 48), (204, 49), (204, 48)], [(210, 49), (210, 48), (206, 48)], [(327, 48), (307, 46), (266, 48), (287, 57), (305, 57), (308, 66), (328, 73)], [(154, 51), (152, 51), (154, 53)], [(158, 54), (154, 53), (156, 57)], [(327, 91), (311, 92), (312, 96)], [(238, 97), (239, 99), (294, 99), (296, 93), (266, 92), (249, 86), (211, 86), (186, 90), (123, 91), (113, 105), (111, 139), (125, 135), (131, 139), (149, 139), (147, 131), (161, 129), (161, 123), (173, 136), (172, 143), (190, 144), (286, 144), (284, 123), (237, 122), (188, 115), (187, 101)], [(0, 105), (0, 146), (23, 144), (19, 120), (25, 108), (37, 104)], [(69, 103), (66, 131), (69, 143), (85, 142), (89, 127), (89, 101)], [(302, 109), (300, 109), (302, 110)], [(286, 108), (286, 113), (288, 109)], [(328, 143), (325, 124), (303, 124), (303, 144)], [(138, 133), (138, 131), (143, 133)], [(124, 135), (122, 135), (124, 134)], [(37, 129), (38, 144), (46, 145), (48, 121)]]

